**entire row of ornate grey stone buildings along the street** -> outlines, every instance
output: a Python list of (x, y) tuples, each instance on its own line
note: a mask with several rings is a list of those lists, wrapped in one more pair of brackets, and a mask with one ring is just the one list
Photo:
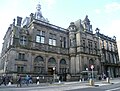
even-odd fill
[(39, 76), (62, 81), (87, 79), (103, 74), (120, 76), (116, 37), (101, 34), (85, 19), (71, 22), (67, 29), (49, 23), (41, 5), (29, 17), (17, 17), (4, 36), (0, 57), (0, 75)]

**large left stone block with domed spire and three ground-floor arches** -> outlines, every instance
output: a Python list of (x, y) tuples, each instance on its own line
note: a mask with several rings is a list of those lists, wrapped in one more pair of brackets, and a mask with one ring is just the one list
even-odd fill
[[(68, 30), (52, 25), (42, 16), (41, 6), (21, 24), (17, 17), (4, 37), (1, 68), (7, 74), (52, 75), (68, 73)], [(55, 68), (55, 69), (53, 69)]]

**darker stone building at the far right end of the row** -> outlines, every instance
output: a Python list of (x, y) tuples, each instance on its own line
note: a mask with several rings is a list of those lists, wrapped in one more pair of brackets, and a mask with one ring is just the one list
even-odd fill
[(98, 28), (96, 34), (100, 43), (101, 70), (109, 77), (120, 76), (120, 61), (116, 37), (110, 38), (101, 34)]

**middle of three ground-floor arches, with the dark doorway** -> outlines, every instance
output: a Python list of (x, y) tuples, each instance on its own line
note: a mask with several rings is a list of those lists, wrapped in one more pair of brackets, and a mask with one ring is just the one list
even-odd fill
[(56, 60), (51, 57), (48, 60), (48, 75), (53, 75), (56, 72)]

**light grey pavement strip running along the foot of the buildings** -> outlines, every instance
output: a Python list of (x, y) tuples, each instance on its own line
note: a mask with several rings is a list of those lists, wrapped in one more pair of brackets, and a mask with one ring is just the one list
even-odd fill
[[(38, 86), (58, 86), (58, 85), (72, 85), (72, 84), (80, 84), (80, 86), (103, 86), (103, 85), (111, 85), (111, 84), (117, 84), (120, 83), (120, 78), (114, 78), (110, 79), (110, 82), (108, 83), (106, 80), (101, 81), (94, 81), (94, 85), (90, 85), (89, 81), (73, 81), (73, 82), (55, 82), (55, 83), (39, 83), (39, 84), (29, 84), (28, 86), (26, 84), (23, 84), (22, 87), (38, 87)], [(1, 87), (17, 87), (17, 84), (8, 84), (7, 86), (4, 86), (3, 84)]]

